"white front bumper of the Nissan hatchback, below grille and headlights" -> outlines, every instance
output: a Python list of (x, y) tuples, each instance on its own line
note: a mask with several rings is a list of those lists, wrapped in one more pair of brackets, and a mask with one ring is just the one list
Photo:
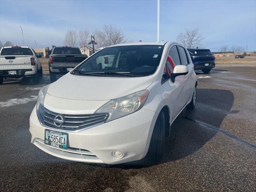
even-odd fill
[[(77, 162), (120, 164), (144, 158), (156, 122), (155, 112), (147, 109), (106, 122), (77, 133), (68, 133), (68, 149), (57, 149), (44, 144), (44, 131), (36, 109), (30, 115), (31, 142), (44, 152)], [(114, 150), (123, 153), (121, 158), (112, 155)]]

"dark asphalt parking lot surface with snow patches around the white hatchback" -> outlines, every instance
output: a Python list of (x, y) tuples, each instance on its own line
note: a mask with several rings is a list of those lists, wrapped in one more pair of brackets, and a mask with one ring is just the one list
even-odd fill
[(166, 153), (151, 167), (90, 165), (30, 143), (40, 88), (29, 78), (0, 86), (0, 191), (256, 191), (256, 65), (197, 72), (198, 100), (172, 124)]

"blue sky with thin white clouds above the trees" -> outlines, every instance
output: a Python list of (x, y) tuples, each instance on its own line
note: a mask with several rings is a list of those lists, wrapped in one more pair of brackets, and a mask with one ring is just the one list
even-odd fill
[[(157, 0), (0, 0), (0, 41), (44, 48), (64, 45), (68, 29), (90, 34), (112, 24), (130, 41), (157, 41)], [(256, 0), (160, 0), (160, 39), (176, 41), (185, 28), (198, 28), (202, 44), (211, 51), (220, 46), (248, 46), (256, 50)]]

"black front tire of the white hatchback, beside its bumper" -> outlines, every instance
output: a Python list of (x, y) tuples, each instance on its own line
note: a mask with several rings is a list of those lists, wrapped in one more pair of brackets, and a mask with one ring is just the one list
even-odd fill
[(154, 126), (144, 165), (154, 165), (161, 160), (162, 155), (165, 151), (165, 126), (166, 123), (164, 112), (161, 111)]

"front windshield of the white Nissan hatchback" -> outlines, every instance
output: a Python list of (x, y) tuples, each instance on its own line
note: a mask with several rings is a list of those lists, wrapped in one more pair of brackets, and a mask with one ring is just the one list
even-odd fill
[(164, 46), (132, 45), (104, 48), (85, 60), (73, 74), (148, 76), (153, 74)]

